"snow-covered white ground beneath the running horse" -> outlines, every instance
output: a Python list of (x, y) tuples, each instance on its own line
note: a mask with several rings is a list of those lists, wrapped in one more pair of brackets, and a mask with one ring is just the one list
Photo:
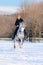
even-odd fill
[(0, 65), (43, 65), (43, 42), (24, 41), (14, 49), (13, 41), (0, 40)]

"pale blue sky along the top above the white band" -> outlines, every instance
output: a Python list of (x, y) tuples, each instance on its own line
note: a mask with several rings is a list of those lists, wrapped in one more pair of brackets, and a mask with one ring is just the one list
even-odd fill
[[(0, 6), (20, 6), (21, 3), (25, 0), (0, 0)], [(27, 1), (27, 0), (26, 0)], [(41, 2), (43, 0), (28, 0), (29, 3), (32, 2)]]

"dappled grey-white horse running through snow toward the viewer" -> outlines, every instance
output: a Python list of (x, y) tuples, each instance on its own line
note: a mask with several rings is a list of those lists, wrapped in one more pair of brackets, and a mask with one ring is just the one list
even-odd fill
[(20, 48), (23, 45), (23, 41), (24, 41), (24, 30), (25, 30), (25, 23), (22, 22), (19, 25), (19, 29), (17, 31), (17, 35), (15, 36), (15, 39), (14, 39), (14, 48), (16, 47), (16, 42), (19, 44)]

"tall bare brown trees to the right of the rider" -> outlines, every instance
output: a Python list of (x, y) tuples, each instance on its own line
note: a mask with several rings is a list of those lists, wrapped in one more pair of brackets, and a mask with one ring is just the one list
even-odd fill
[(21, 5), (21, 16), (26, 23), (26, 33), (32, 30), (33, 37), (41, 37), (43, 32), (43, 3), (24, 2)]

